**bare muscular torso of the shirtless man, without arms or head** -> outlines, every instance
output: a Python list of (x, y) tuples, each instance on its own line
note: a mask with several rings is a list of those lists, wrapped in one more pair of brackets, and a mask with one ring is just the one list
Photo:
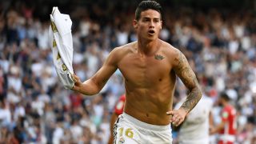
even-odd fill
[(176, 79), (171, 63), (174, 48), (164, 43), (154, 54), (140, 55), (136, 46), (136, 42), (123, 46), (118, 62), (125, 78), (125, 112), (142, 122), (166, 125)]

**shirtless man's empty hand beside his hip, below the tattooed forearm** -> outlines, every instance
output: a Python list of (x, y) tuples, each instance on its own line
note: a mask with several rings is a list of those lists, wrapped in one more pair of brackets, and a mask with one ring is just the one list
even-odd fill
[(172, 118), (170, 119), (170, 122), (174, 124), (174, 126), (178, 126), (184, 121), (187, 112), (186, 110), (179, 108), (178, 110), (167, 111), (166, 114), (171, 115)]

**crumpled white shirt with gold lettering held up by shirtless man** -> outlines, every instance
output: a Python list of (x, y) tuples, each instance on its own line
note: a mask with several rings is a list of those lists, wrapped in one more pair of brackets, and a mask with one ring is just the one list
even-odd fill
[(53, 51), (55, 70), (63, 86), (71, 89), (74, 86), (72, 21), (70, 15), (61, 14), (58, 7), (54, 7), (50, 14), (50, 22), (50, 46)]

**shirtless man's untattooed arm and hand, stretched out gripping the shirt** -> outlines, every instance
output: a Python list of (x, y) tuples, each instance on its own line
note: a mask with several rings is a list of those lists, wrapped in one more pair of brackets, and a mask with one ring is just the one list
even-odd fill
[(118, 48), (111, 51), (108, 58), (104, 62), (103, 66), (98, 70), (94, 76), (85, 82), (81, 82), (78, 76), (74, 74), (74, 87), (72, 90), (78, 91), (81, 94), (85, 95), (94, 95), (98, 94), (105, 86), (106, 82), (110, 78), (114, 71), (118, 69)]

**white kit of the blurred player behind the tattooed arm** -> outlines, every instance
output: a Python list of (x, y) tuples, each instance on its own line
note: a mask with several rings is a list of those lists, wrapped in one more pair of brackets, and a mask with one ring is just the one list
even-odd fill
[[(186, 98), (182, 98), (174, 107), (178, 109)], [(209, 136), (209, 114), (213, 107), (213, 101), (203, 95), (198, 104), (186, 116), (178, 131), (178, 143), (180, 144), (207, 144), (210, 143)], [(208, 133), (207, 133), (208, 132)]]

